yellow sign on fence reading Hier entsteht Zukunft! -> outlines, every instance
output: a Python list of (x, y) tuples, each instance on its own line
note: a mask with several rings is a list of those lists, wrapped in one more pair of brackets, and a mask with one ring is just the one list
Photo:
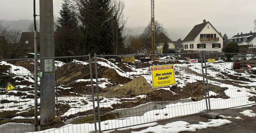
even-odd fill
[(173, 65), (151, 66), (153, 87), (175, 85)]

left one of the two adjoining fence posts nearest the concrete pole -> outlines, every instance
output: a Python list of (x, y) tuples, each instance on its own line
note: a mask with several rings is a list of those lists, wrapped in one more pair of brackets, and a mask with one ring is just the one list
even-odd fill
[(92, 82), (92, 61), (91, 61), (91, 54), (89, 54), (89, 66), (90, 66), (90, 77), (91, 77), (91, 88), (92, 88), (92, 107), (93, 107), (93, 118), (94, 118), (94, 128), (95, 133), (97, 133), (97, 121), (96, 121), (96, 114), (95, 114), (95, 103), (94, 103), (94, 88)]

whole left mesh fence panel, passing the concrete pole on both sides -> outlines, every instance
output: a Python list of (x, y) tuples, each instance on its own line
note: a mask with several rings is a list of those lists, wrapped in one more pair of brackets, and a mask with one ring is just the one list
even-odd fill
[[(34, 125), (34, 60), (1, 60), (0, 133), (90, 132), (96, 129), (96, 122), (93, 119), (95, 109), (89, 58), (89, 56), (55, 58), (56, 119), (50, 121), (51, 124), (46, 127)], [(38, 58), (38, 66), (40, 66), (40, 59), (46, 58)], [(38, 68), (40, 71), (40, 67)], [(43, 73), (42, 76), (46, 75)], [(6, 91), (8, 85), (16, 87), (16, 89), (12, 88), (12, 90)], [(38, 77), (39, 125), (41, 95), (44, 94), (40, 93), (40, 78)], [(88, 117), (84, 118), (83, 116)], [(84, 121), (84, 119), (86, 120)]]

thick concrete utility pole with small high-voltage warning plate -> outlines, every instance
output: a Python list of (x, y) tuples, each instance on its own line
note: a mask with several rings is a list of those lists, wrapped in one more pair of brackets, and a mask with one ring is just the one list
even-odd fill
[(47, 126), (55, 119), (53, 0), (40, 0), (40, 125)]

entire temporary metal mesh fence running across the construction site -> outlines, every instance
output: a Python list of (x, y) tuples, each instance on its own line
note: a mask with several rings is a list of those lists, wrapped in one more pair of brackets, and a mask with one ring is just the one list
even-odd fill
[[(252, 61), (253, 54), (250, 56)], [(37, 117), (40, 119), (42, 95), (38, 78), (38, 97), (34, 98), (35, 59), (0, 60), (0, 133), (10, 129), (40, 133), (122, 130), (255, 104), (256, 76), (235, 71), (234, 60), (226, 62), (226, 57), (227, 54), (210, 52), (54, 57), (57, 117), (51, 124), (59, 128), (32, 125)], [(235, 59), (234, 54), (230, 57)], [(40, 63), (42, 59), (45, 58), (36, 60)], [(172, 66), (172, 73), (154, 71), (168, 65)], [(155, 81), (160, 84), (168, 78), (174, 85), (152, 87)], [(6, 91), (8, 82), (17, 89)], [(35, 99), (39, 116), (34, 113)]]

